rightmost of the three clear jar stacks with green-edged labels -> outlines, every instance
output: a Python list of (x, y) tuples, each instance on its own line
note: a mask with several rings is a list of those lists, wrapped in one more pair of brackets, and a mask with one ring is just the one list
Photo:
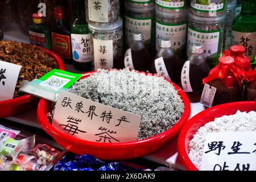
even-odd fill
[(226, 7), (232, 0), (191, 0), (188, 13), (187, 55), (193, 43), (203, 44), (210, 68), (218, 64), (222, 52)]

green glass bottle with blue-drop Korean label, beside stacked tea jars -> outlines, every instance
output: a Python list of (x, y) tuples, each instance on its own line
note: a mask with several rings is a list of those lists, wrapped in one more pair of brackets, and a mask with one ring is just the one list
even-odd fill
[(84, 0), (77, 0), (77, 17), (71, 27), (73, 64), (80, 71), (91, 71), (90, 34), (84, 7)]

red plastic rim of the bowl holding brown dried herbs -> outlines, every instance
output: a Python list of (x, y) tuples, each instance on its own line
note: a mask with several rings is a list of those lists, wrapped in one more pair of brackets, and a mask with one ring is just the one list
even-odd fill
[[(46, 52), (49, 56), (51, 56), (57, 63), (59, 69), (61, 70), (65, 70), (65, 66), (63, 63), (63, 60), (56, 55), (55, 52), (49, 51), (46, 48), (42, 48), (42, 47), (38, 47), (36, 46), (36, 48), (38, 49), (42, 49), (44, 52)], [(14, 106), (21, 106), (23, 104), (29, 105), (31, 102), (39, 100), (37, 97), (34, 96), (30, 96), (29, 94), (26, 94), (24, 96), (20, 96), (20, 97), (16, 97), (10, 100), (6, 100), (6, 101), (0, 101), (0, 108), (1, 107), (14, 107)], [(20, 107), (20, 109), (22, 109), (22, 107)], [(13, 111), (14, 113), (16, 111)], [(17, 110), (17, 114), (19, 113), (19, 111)], [(1, 111), (0, 113), (0, 118), (5, 118), (5, 117), (9, 117), (11, 114), (10, 113), (4, 113)]]

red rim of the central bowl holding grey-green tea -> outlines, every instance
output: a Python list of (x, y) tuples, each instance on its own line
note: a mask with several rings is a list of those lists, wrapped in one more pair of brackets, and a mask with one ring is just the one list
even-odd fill
[[(96, 72), (96, 71), (84, 73), (82, 78), (88, 77), (88, 76), (92, 75), (92, 73), (94, 73), (94, 72)], [(145, 74), (148, 75), (147, 73), (145, 73)], [(179, 133), (181, 128), (188, 121), (190, 114), (191, 114), (191, 105), (190, 105), (189, 99), (188, 99), (187, 95), (185, 94), (185, 92), (183, 90), (181, 90), (179, 88), (179, 86), (177, 86), (176, 84), (172, 83), (171, 81), (169, 81), (169, 82), (172, 85), (174, 85), (175, 89), (177, 90), (177, 92), (181, 96), (181, 99), (184, 102), (184, 113), (183, 113), (180, 121), (177, 122), (176, 125), (171, 127), (171, 129), (164, 131), (163, 133), (156, 135), (154, 137), (151, 137), (151, 138), (138, 140), (138, 141), (134, 141), (134, 142), (122, 142), (122, 143), (109, 144), (109, 143), (90, 142), (87, 140), (82, 140), (82, 139), (77, 139), (77, 138), (71, 137), (71, 136), (55, 129), (48, 122), (46, 114), (48, 113), (50, 102), (43, 100), (43, 99), (39, 102), (39, 106), (38, 106), (38, 113), (37, 113), (38, 121), (39, 121), (40, 125), (42, 126), (42, 128), (49, 135), (51, 135), (56, 140), (56, 142), (61, 143), (61, 144), (65, 143), (65, 144), (67, 144), (67, 146), (69, 146), (69, 148), (72, 148), (72, 146), (77, 146), (77, 147), (80, 147), (81, 149), (83, 147), (88, 147), (90, 149), (95, 150), (96, 153), (101, 152), (101, 151), (108, 152), (108, 151), (118, 151), (118, 150), (134, 150), (134, 149), (140, 150), (139, 148), (143, 148), (143, 150), (145, 150), (145, 147), (146, 147), (146, 149), (148, 147), (148, 150), (150, 151), (150, 146), (159, 145), (159, 147), (160, 147), (160, 146), (163, 146), (163, 144), (167, 144), (172, 137), (174, 137), (177, 133)], [(68, 150), (67, 147), (66, 147), (66, 149)], [(77, 151), (77, 154), (81, 154), (81, 151)], [(138, 156), (139, 156), (139, 154), (137, 155), (137, 157)], [(114, 159), (115, 156), (112, 156), (110, 158)], [(131, 157), (127, 156), (126, 158), (129, 159)]]

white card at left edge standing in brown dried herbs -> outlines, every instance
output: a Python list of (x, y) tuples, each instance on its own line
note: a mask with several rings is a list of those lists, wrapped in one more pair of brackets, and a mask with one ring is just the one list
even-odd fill
[(13, 98), (22, 66), (0, 61), (0, 101)]

